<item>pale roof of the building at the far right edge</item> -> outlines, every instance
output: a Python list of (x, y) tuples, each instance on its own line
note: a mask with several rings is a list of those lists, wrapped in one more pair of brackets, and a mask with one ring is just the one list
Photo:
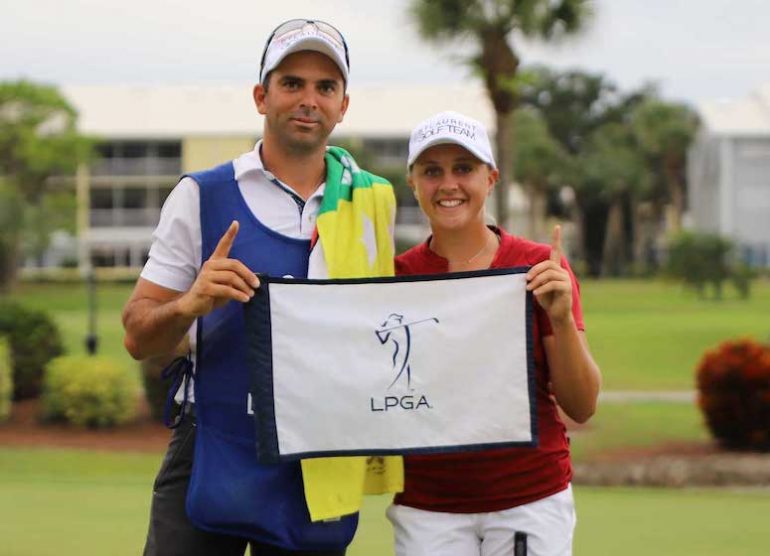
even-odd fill
[(698, 112), (710, 134), (770, 136), (770, 83), (742, 99), (701, 103)]

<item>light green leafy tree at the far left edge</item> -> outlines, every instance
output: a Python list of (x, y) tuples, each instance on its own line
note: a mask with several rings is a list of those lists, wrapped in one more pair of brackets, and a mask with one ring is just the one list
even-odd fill
[[(75, 109), (54, 87), (29, 81), (0, 82), (0, 176), (3, 197), (19, 211), (41, 207), (48, 178), (74, 172), (90, 142), (78, 134)], [(39, 211), (38, 211), (39, 212)], [(0, 291), (13, 284), (23, 218), (0, 218), (8, 239), (0, 244)]]

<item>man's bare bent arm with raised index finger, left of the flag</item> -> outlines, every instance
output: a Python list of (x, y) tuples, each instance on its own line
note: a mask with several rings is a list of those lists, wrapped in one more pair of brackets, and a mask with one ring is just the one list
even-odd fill
[(251, 299), (259, 280), (242, 262), (228, 258), (237, 233), (234, 221), (186, 292), (139, 278), (123, 309), (123, 343), (134, 359), (172, 351), (196, 318), (231, 300)]

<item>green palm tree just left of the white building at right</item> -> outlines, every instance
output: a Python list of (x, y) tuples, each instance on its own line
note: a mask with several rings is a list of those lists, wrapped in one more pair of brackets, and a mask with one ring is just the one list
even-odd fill
[(685, 104), (650, 98), (634, 109), (631, 123), (636, 141), (665, 184), (664, 195), (673, 208), (671, 231), (678, 232), (687, 198), (687, 150), (695, 137), (698, 117)]

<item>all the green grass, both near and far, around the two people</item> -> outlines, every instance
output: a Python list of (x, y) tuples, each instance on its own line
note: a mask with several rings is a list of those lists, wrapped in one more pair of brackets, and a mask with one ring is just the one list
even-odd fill
[[(135, 365), (122, 347), (120, 310), (131, 286), (99, 286), (101, 353)], [(86, 292), (23, 285), (14, 297), (51, 311), (72, 353), (82, 353)], [(738, 336), (770, 335), (770, 283), (749, 301), (701, 301), (657, 281), (587, 281), (583, 299), (605, 389), (689, 389), (703, 351)], [(602, 404), (572, 434), (576, 461), (607, 450), (707, 441), (691, 404)], [(133, 555), (141, 552), (151, 486), (162, 454), (0, 446), (0, 555)], [(575, 554), (752, 556), (767, 552), (770, 492), (576, 488)], [(348, 554), (392, 554), (386, 496), (365, 501)], [(31, 534), (34, 532), (34, 534)]]

